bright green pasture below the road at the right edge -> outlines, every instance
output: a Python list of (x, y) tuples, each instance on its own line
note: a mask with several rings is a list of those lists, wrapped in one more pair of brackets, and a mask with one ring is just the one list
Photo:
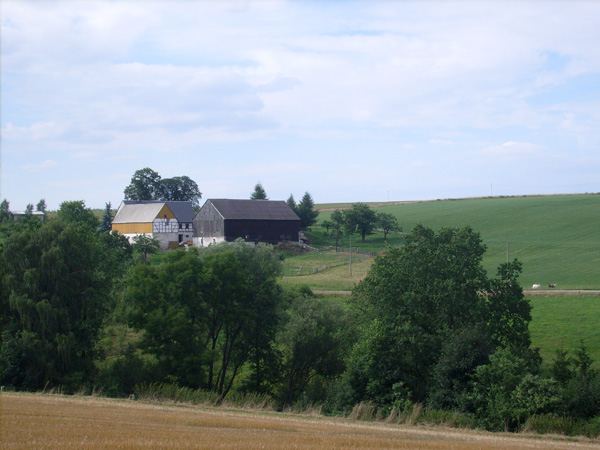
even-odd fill
[(596, 367), (600, 366), (600, 297), (532, 297), (529, 325), (533, 347), (544, 361), (554, 359), (557, 349), (573, 351), (584, 342)]

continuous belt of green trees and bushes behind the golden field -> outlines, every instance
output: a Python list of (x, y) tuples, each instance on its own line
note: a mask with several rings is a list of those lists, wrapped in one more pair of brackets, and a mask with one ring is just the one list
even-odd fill
[(542, 364), (520, 263), (489, 277), (469, 227), (417, 226), (375, 259), (349, 301), (283, 287), (270, 246), (148, 259), (100, 228), (83, 202), (64, 202), (44, 223), (0, 224), (2, 385), (126, 396), (157, 383), (327, 414), (424, 405), (490, 430), (539, 418), (597, 429), (600, 374), (585, 346)]

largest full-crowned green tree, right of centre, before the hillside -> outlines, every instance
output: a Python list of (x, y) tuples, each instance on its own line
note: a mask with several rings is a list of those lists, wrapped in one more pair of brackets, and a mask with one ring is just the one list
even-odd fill
[[(436, 234), (418, 225), (403, 247), (376, 258), (354, 291), (354, 305), (365, 324), (352, 369), (360, 398), (392, 402), (396, 386), (410, 400), (424, 401), (442, 351), (460, 354), (444, 343), (462, 345), (464, 351), (482, 348), (480, 337), (462, 338), (462, 330), (479, 328), (492, 344), (487, 351), (528, 345), (521, 324), (528, 323), (530, 308), (522, 291), (513, 290), (515, 273), (488, 280), (481, 264), (484, 252), (480, 235), (469, 227)], [(510, 323), (517, 325), (511, 328)], [(448, 355), (445, 367), (457, 361)], [(465, 385), (465, 380), (456, 381)]]

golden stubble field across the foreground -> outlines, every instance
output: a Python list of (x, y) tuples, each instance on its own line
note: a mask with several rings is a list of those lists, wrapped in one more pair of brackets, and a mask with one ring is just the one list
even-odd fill
[(600, 449), (599, 440), (3, 394), (2, 449)]

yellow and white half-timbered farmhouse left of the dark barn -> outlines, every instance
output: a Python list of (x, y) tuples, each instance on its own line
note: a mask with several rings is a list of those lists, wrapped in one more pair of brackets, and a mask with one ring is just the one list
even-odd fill
[(124, 200), (112, 222), (112, 230), (130, 241), (139, 234), (157, 239), (161, 248), (177, 247), (193, 239), (192, 202)]

